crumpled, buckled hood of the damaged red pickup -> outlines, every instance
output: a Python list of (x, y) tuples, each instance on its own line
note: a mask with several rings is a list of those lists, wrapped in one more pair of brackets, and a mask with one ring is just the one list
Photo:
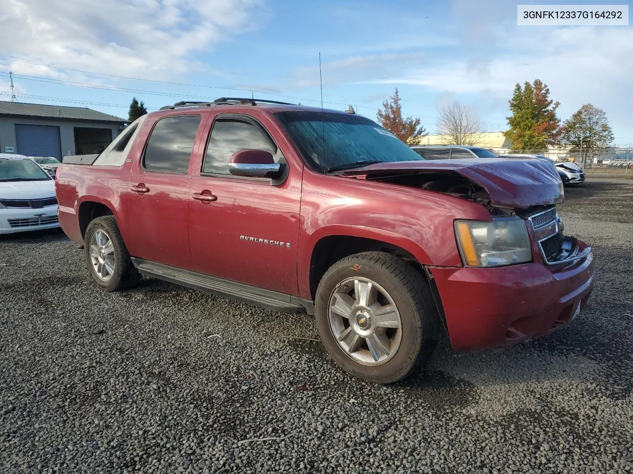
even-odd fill
[(405, 173), (456, 173), (482, 186), (492, 204), (527, 208), (563, 202), (563, 183), (553, 162), (539, 159), (461, 159), (377, 163), (342, 171), (343, 176), (392, 176)]

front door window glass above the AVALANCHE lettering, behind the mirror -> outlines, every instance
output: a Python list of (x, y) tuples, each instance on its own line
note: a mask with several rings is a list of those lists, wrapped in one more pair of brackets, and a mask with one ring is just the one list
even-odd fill
[(258, 126), (238, 119), (216, 119), (204, 155), (203, 173), (229, 174), (229, 160), (245, 148), (277, 152), (272, 140)]

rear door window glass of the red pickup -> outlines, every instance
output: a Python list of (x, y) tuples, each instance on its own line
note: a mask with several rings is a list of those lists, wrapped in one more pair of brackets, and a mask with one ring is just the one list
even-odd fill
[(143, 167), (158, 173), (187, 174), (199, 125), (199, 115), (161, 118), (149, 135)]

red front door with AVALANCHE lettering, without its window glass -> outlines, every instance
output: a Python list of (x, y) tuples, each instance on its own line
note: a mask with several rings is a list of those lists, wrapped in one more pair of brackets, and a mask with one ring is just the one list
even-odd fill
[[(213, 119), (223, 112), (222, 107), (210, 112), (204, 137), (210, 133)], [(260, 179), (201, 175), (203, 143), (194, 164), (190, 195), (209, 191), (216, 200), (204, 203), (189, 199), (189, 242), (194, 270), (297, 295), (303, 162), (268, 114), (254, 107), (232, 107), (230, 113), (247, 114), (268, 130), (284, 152), (289, 173), (279, 186)]]

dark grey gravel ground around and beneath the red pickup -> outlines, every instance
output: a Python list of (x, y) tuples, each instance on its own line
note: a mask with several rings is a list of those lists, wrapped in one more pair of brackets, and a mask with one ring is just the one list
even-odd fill
[(317, 337), (305, 315), (153, 279), (102, 293), (63, 234), (0, 238), (0, 471), (632, 472), (633, 182), (566, 198), (596, 253), (584, 312), (509, 349), (444, 339), (395, 386), (284, 340)]

